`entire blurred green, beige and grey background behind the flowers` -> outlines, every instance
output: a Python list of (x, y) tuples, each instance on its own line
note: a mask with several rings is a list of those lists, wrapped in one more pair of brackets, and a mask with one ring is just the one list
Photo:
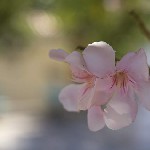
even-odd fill
[(71, 82), (67, 65), (50, 49), (68, 52), (106, 41), (121, 58), (150, 41), (130, 12), (150, 29), (149, 0), (0, 0), (0, 150), (149, 150), (150, 112), (135, 123), (93, 133), (86, 112), (66, 112), (60, 90)]

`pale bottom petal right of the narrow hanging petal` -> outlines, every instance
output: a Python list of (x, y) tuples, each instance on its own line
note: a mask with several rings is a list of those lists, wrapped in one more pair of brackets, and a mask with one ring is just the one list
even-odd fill
[(119, 114), (111, 106), (104, 110), (104, 120), (108, 128), (118, 130), (132, 123), (130, 113)]

